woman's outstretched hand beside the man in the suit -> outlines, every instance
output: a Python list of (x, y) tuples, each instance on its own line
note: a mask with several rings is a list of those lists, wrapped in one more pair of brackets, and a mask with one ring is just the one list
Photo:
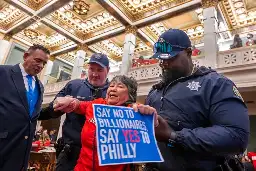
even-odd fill
[(79, 101), (71, 96), (57, 97), (54, 100), (53, 108), (55, 111), (62, 111), (70, 113), (74, 111), (79, 105)]

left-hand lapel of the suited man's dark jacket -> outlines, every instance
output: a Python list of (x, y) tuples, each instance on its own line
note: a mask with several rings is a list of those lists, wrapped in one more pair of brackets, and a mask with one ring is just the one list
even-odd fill
[(23, 76), (20, 70), (19, 65), (15, 65), (12, 68), (12, 73), (11, 77), (13, 80), (13, 83), (18, 91), (18, 94), (20, 96), (21, 102), (25, 109), (27, 110), (26, 116), (29, 117), (29, 109), (28, 109), (28, 100), (27, 100), (27, 95), (26, 95), (26, 88), (23, 80)]

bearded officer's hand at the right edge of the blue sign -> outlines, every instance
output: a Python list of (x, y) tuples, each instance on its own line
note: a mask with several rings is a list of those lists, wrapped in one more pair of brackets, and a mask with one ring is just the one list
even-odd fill
[(173, 129), (168, 125), (167, 121), (161, 116), (157, 116), (159, 125), (155, 128), (155, 136), (159, 142), (168, 142)]

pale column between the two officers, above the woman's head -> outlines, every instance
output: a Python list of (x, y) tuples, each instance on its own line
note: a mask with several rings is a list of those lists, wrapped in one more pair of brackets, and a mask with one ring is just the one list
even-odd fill
[(128, 75), (128, 72), (132, 65), (132, 56), (134, 53), (135, 43), (136, 43), (136, 31), (137, 29), (133, 26), (126, 28), (124, 51), (122, 56), (122, 67), (121, 67), (122, 75)]

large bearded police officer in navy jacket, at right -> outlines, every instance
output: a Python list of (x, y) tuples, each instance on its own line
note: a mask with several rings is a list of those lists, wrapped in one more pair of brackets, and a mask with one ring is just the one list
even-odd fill
[(245, 150), (249, 136), (248, 111), (236, 86), (214, 70), (193, 65), (191, 42), (181, 30), (164, 32), (154, 53), (163, 75), (146, 104), (158, 112), (155, 134), (165, 161), (147, 168), (225, 170), (224, 162)]

